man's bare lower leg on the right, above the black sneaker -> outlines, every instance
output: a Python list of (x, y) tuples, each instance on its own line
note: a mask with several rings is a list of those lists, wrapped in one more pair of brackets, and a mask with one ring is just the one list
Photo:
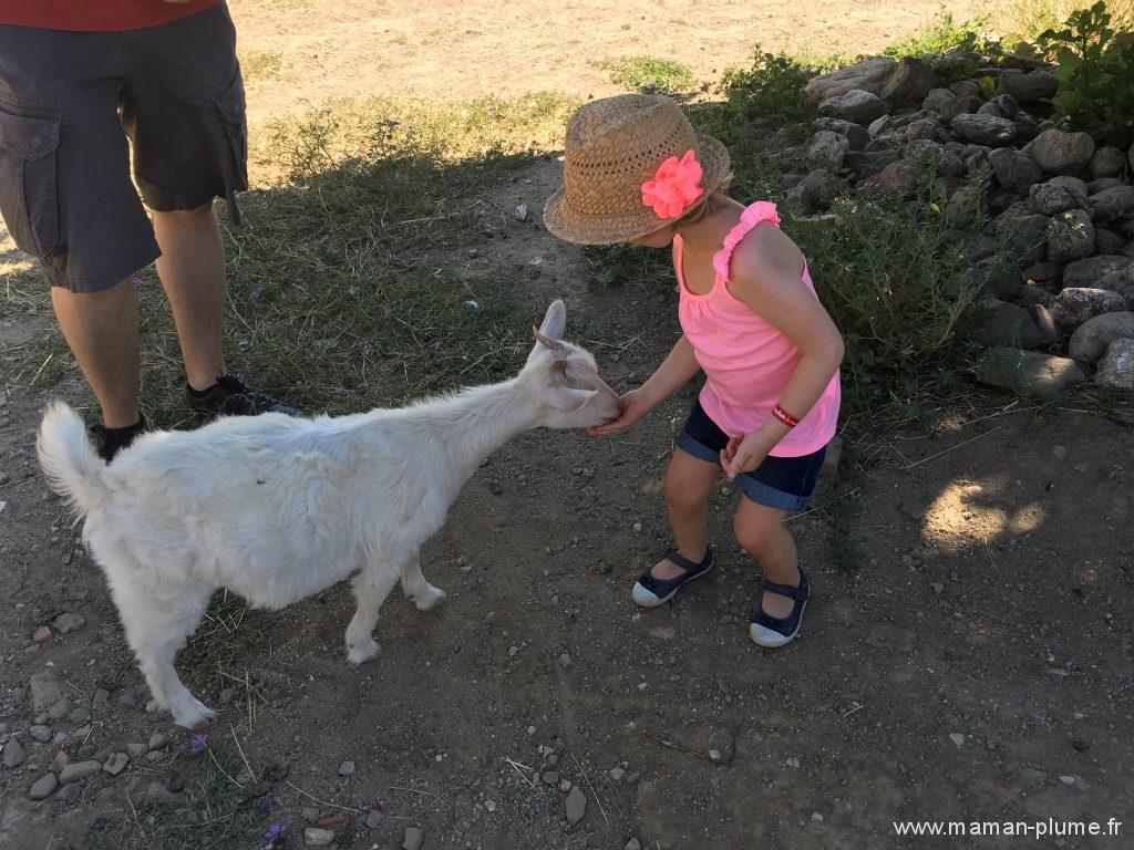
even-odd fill
[(225, 374), (225, 245), (212, 204), (154, 212), (161, 246), (158, 277), (174, 311), (185, 374), (194, 390), (208, 390)]

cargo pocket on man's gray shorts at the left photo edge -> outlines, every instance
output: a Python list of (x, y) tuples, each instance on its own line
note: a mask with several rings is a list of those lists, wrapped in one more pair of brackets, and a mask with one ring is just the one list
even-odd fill
[(0, 104), (0, 214), (17, 247), (41, 258), (59, 248), (58, 148), (58, 116), (22, 116)]

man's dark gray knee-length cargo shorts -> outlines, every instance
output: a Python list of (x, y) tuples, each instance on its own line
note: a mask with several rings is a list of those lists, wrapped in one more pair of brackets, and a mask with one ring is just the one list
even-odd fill
[(0, 26), (0, 214), (52, 286), (98, 292), (156, 260), (143, 201), (170, 212), (223, 197), (239, 223), (246, 188), (223, 3), (117, 33)]

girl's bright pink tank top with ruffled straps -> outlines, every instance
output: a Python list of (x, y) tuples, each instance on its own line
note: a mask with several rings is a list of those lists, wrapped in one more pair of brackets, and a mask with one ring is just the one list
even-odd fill
[[(799, 349), (782, 332), (752, 312), (728, 291), (728, 267), (733, 250), (761, 222), (779, 227), (776, 204), (758, 201), (741, 214), (741, 223), (725, 237), (713, 255), (712, 289), (695, 295), (685, 283), (682, 238), (674, 237), (674, 266), (680, 284), (678, 315), (686, 339), (705, 373), (701, 407), (729, 435), (750, 434), (771, 415), (799, 363)], [(804, 262), (801, 279), (812, 294), (815, 287)], [(815, 406), (771, 450), (780, 458), (819, 451), (835, 435), (839, 415), (839, 373)], [(789, 410), (788, 413), (795, 413)]]

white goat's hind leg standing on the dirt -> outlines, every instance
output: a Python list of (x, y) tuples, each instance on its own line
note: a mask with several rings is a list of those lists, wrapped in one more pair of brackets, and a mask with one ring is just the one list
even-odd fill
[(159, 593), (121, 583), (113, 586), (113, 595), (126, 640), (158, 704), (186, 729), (217, 720), (217, 713), (188, 691), (174, 668), (177, 651), (196, 630), (209, 605), (209, 588), (178, 587)]

